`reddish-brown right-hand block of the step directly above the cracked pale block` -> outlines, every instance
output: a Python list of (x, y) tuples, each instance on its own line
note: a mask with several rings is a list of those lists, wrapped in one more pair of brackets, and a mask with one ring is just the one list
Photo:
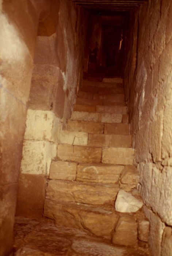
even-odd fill
[(129, 134), (129, 124), (104, 124), (104, 134)]

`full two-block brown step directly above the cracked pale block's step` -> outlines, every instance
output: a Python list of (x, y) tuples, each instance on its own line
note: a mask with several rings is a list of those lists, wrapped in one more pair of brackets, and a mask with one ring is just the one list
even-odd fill
[(129, 135), (129, 124), (103, 124), (92, 121), (68, 120), (68, 131), (94, 134)]

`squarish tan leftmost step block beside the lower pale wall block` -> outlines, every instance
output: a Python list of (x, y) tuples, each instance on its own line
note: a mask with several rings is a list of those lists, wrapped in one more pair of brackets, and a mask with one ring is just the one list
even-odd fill
[(76, 163), (52, 161), (49, 178), (55, 180), (76, 180), (76, 169)]

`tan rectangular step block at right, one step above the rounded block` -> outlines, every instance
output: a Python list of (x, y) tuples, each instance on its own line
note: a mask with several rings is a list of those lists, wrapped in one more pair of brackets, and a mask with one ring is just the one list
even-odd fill
[(103, 148), (102, 163), (114, 163), (116, 165), (132, 165), (133, 160), (133, 148)]

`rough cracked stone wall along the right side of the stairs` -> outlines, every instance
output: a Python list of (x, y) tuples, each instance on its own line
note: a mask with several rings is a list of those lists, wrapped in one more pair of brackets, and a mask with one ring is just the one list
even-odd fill
[(125, 89), (150, 248), (172, 255), (172, 2), (148, 1), (138, 16), (137, 67), (130, 48)]

